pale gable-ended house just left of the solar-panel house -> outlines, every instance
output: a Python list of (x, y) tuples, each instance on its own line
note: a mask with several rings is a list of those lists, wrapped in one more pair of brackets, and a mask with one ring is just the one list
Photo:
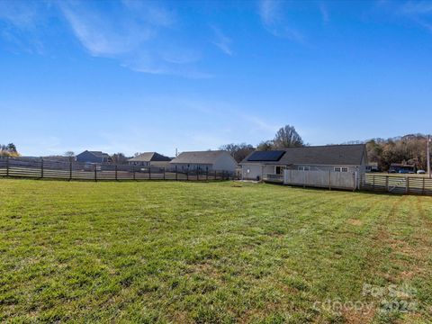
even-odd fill
[(169, 164), (179, 171), (218, 170), (231, 173), (234, 173), (237, 166), (236, 160), (224, 150), (183, 152)]

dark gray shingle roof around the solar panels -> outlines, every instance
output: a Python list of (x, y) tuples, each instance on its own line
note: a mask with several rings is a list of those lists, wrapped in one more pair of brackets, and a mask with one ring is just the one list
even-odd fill
[(285, 154), (276, 162), (247, 161), (240, 163), (262, 163), (271, 165), (319, 165), (319, 166), (360, 166), (366, 154), (365, 144), (310, 146), (284, 148)]

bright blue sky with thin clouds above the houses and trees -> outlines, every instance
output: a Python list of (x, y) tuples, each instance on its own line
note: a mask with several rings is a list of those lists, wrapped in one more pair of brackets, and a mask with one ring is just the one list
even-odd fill
[(0, 0), (0, 73), (31, 156), (430, 133), (432, 2)]

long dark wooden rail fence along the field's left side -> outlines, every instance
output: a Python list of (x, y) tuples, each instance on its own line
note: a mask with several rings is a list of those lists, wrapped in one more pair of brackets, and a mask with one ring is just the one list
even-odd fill
[(176, 167), (86, 164), (30, 157), (0, 157), (0, 176), (65, 180), (230, 180), (234, 174), (214, 170), (177, 170)]

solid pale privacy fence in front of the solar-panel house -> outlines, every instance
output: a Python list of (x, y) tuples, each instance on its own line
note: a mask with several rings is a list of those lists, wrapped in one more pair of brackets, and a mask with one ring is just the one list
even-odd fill
[(284, 170), (284, 184), (356, 190), (358, 175), (356, 172)]

